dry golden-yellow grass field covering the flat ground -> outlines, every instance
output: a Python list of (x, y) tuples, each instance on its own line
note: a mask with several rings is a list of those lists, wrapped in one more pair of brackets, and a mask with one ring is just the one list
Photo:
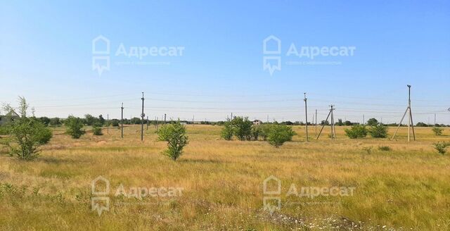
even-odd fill
[[(110, 128), (81, 139), (54, 130), (34, 161), (0, 154), (0, 230), (450, 230), (450, 155), (437, 154), (431, 128), (418, 141), (347, 139), (329, 127), (316, 141), (298, 135), (276, 149), (267, 142), (224, 141), (221, 127), (187, 125), (190, 143), (174, 162), (162, 156), (155, 127)], [(394, 128), (390, 128), (390, 134)], [(370, 153), (364, 148), (373, 146)], [(392, 151), (380, 151), (390, 146)], [(110, 181), (110, 209), (91, 211), (91, 181)], [(281, 180), (281, 209), (264, 211), (263, 181)], [(179, 187), (177, 196), (115, 196), (123, 185)], [(354, 187), (351, 196), (287, 195), (290, 186)]]

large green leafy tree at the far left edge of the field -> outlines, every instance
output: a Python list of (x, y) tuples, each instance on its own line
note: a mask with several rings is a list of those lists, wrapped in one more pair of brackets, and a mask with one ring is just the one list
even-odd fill
[[(31, 160), (39, 156), (39, 146), (46, 144), (52, 137), (51, 130), (36, 118), (27, 118), (28, 104), (25, 98), (19, 97), (20, 118), (8, 122), (6, 129), (11, 136), (6, 142), (11, 156), (23, 160)], [(5, 106), (11, 111), (11, 106)]]

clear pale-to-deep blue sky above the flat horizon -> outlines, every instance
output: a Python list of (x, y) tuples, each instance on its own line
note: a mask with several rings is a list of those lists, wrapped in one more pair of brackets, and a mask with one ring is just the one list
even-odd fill
[[(110, 70), (92, 40), (110, 40)], [(281, 70), (263, 39), (281, 39)], [(120, 46), (182, 46), (180, 56), (115, 56)], [(288, 56), (290, 44), (352, 46), (353, 56)], [(271, 56), (271, 55), (269, 55)], [(139, 63), (142, 62), (142, 63)], [(320, 63), (321, 62), (321, 63)], [(297, 64), (296, 64), (297, 63)], [(334, 64), (332, 64), (334, 63)], [(415, 122), (450, 124), (450, 1), (1, 1), (0, 102), (25, 96), (36, 116), (91, 113), (191, 120), (396, 122), (412, 85)]]

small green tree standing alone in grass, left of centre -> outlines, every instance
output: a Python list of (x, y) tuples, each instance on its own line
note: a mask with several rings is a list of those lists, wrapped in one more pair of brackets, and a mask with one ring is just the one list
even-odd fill
[(162, 125), (158, 130), (158, 140), (167, 142), (167, 149), (162, 152), (176, 161), (183, 153), (183, 148), (188, 144), (186, 127), (178, 120), (176, 123)]

